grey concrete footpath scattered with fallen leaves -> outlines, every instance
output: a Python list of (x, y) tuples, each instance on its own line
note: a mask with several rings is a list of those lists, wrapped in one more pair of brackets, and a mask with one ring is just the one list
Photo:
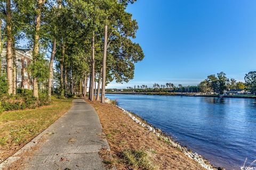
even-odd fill
[(0, 165), (0, 169), (106, 169), (99, 150), (109, 150), (94, 108), (82, 99), (44, 132)]

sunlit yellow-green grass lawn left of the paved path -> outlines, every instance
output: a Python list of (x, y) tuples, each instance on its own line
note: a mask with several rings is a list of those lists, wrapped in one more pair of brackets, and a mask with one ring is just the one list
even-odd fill
[(71, 106), (72, 99), (52, 97), (49, 106), (0, 113), (0, 163), (49, 127)]

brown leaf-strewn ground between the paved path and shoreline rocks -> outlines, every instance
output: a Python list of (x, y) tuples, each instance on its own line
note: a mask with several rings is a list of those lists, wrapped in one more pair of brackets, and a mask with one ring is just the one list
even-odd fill
[(204, 169), (193, 159), (135, 123), (118, 107), (88, 100), (87, 102), (98, 112), (113, 155), (113, 162), (118, 170), (135, 169), (124, 160), (123, 152), (127, 149), (150, 152), (150, 159), (157, 169)]

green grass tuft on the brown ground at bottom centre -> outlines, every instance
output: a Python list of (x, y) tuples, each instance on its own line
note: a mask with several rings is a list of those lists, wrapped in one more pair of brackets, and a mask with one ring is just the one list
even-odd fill
[(133, 168), (156, 170), (158, 167), (150, 160), (150, 153), (144, 150), (127, 149), (123, 152), (124, 161)]

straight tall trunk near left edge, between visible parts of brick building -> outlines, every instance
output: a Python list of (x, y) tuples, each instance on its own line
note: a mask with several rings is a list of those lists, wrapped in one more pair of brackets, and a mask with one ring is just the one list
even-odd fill
[(11, 13), (11, 0), (6, 1), (6, 31), (7, 31), (7, 44), (6, 44), (6, 61), (7, 61), (7, 82), (8, 94), (13, 93), (13, 61), (12, 61), (12, 13)]

